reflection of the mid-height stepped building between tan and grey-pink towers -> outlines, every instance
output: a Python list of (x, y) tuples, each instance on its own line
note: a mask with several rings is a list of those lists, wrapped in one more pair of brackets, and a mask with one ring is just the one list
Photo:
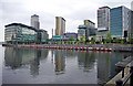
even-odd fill
[(79, 52), (78, 53), (79, 67), (83, 68), (84, 72), (91, 71), (94, 66), (95, 56), (94, 53), (89, 52)]

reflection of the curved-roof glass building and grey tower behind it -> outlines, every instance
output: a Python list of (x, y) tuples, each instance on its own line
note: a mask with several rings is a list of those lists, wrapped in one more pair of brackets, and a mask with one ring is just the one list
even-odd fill
[(40, 60), (45, 60), (48, 57), (48, 50), (7, 47), (4, 51), (6, 66), (11, 69), (17, 69), (30, 65), (30, 74), (37, 76), (39, 75)]

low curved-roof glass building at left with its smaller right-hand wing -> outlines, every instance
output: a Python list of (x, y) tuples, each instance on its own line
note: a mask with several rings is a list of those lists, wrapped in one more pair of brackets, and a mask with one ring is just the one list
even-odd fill
[(49, 34), (45, 30), (39, 30), (22, 23), (11, 23), (6, 25), (6, 43), (43, 43), (47, 39), (49, 39)]

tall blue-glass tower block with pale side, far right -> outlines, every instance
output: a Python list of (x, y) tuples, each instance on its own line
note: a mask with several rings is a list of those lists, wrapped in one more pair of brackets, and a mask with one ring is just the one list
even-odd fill
[(131, 34), (131, 10), (125, 7), (111, 9), (110, 32), (112, 37), (127, 37)]

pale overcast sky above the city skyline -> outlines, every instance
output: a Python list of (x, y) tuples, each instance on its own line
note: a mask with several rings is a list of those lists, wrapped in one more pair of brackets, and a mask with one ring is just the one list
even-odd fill
[(47, 30), (49, 37), (55, 29), (55, 17), (63, 17), (65, 32), (78, 32), (83, 20), (95, 24), (100, 7), (125, 6), (131, 9), (132, 0), (0, 0), (0, 42), (4, 41), (4, 25), (23, 23), (30, 25), (31, 15), (38, 14), (40, 28)]

